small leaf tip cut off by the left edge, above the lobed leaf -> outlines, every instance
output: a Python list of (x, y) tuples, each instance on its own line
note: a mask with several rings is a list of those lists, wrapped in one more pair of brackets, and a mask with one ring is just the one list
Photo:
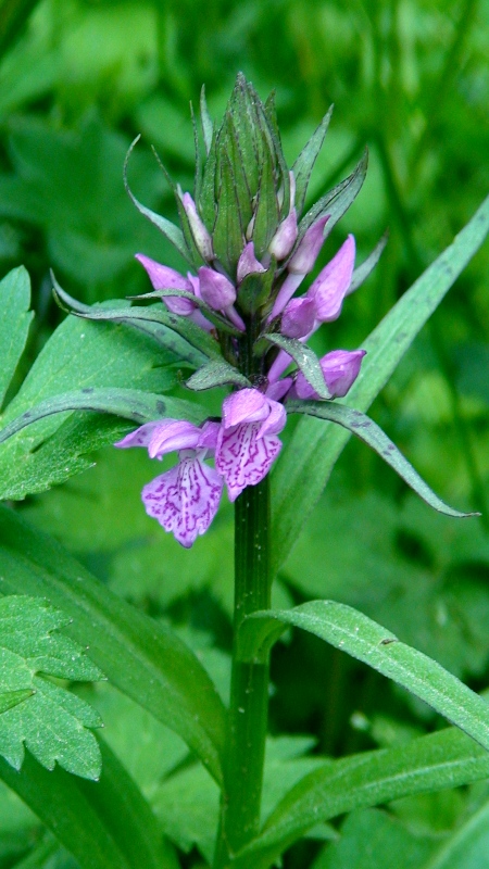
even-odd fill
[(0, 282), (0, 407), (27, 341), (33, 318), (29, 304), (29, 276), (20, 266)]

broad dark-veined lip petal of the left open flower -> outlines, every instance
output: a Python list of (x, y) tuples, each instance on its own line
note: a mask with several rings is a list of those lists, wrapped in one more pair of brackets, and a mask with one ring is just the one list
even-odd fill
[(220, 505), (223, 480), (198, 455), (187, 455), (142, 490), (149, 516), (189, 549), (211, 525)]

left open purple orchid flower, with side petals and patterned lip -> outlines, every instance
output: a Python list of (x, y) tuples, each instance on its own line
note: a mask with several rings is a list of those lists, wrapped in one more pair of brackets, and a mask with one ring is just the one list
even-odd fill
[(204, 463), (215, 450), (220, 426), (159, 419), (147, 423), (118, 441), (115, 446), (146, 446), (151, 458), (178, 451), (178, 464), (155, 477), (142, 489), (142, 503), (149, 516), (171, 531), (178, 543), (189, 549), (211, 525), (220, 505), (223, 479)]

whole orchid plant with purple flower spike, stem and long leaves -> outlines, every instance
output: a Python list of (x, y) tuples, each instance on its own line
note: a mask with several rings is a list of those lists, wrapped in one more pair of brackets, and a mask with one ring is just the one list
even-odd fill
[[(67, 412), (96, 411), (111, 415), (111, 419), (115, 417), (116, 448), (142, 448), (159, 461), (168, 453), (177, 454), (170, 469), (148, 480), (142, 489), (142, 503), (149, 516), (162, 526), (162, 533), (173, 534), (186, 549), (200, 545), (198, 538), (210, 528), (227, 492), (235, 505), (229, 708), (224, 709), (209, 675), (179, 638), (89, 578), (79, 583), (78, 568), (73, 571), (67, 562), (59, 562), (55, 550), (50, 550), (48, 543), (39, 543), (45, 566), (30, 571), (27, 578), (22, 574), (23, 584), (21, 580), (17, 584), (15, 579), (7, 580), (5, 591), (34, 595), (28, 601), (38, 596), (48, 599), (57, 612), (74, 620), (73, 640), (89, 645), (92, 664), (78, 647), (73, 652), (75, 646), (66, 645), (59, 651), (60, 660), (63, 654), (71, 655), (72, 660), (76, 657), (76, 666), (66, 664), (49, 669), (46, 662), (39, 660), (38, 670), (72, 680), (97, 679), (103, 672), (179, 733), (197, 754), (222, 794), (215, 830), (215, 869), (251, 866), (267, 869), (318, 822), (352, 807), (385, 803), (488, 774), (489, 714), (479, 696), (437, 663), (351, 607), (315, 601), (291, 609), (273, 609), (271, 593), (277, 566), (293, 545), (350, 433), (373, 448), (431, 507), (452, 517), (474, 515), (444, 504), (364, 411), (481, 243), (489, 214), (487, 205), (482, 206), (363, 348), (333, 349), (318, 358), (309, 344), (310, 338), (340, 316), (344, 300), (368, 277), (386, 243), (383, 238), (355, 268), (355, 242), (350, 235), (317, 276), (309, 278), (326, 239), (361, 189), (366, 154), (346, 180), (304, 212), (308, 184), (330, 113), (289, 169), (280, 144), (274, 98), (263, 103), (242, 75), (236, 80), (220, 126), (209, 115), (203, 92), (200, 110), (200, 129), (195, 121), (193, 196), (183, 192), (166, 176), (175, 193), (179, 227), (150, 211), (131, 191), (127, 173), (135, 143), (125, 167), (133, 202), (175, 245), (187, 263), (187, 273), (137, 253), (152, 286), (150, 292), (134, 299), (142, 304), (121, 301), (92, 307), (72, 299), (53, 277), (60, 305), (78, 318), (70, 317), (68, 324), (95, 320), (90, 325), (91, 335), (101, 343), (115, 328), (110, 324), (123, 324), (124, 335), (137, 335), (145, 343), (145, 352), (158, 353), (163, 349), (178, 369), (177, 393), (151, 392), (140, 388), (136, 377), (124, 386), (115, 374), (112, 381), (99, 380), (95, 386), (68, 383), (67, 391), (66, 388), (52, 391), (51, 386), (51, 391), (41, 393), (38, 401), (29, 399), (28, 389), (27, 398), (23, 398), (21, 390), (21, 398), (8, 408), (0, 442), (5, 442), (2, 449), (16, 443), (22, 450), (21, 439), (27, 437), (25, 430), (33, 430), (32, 451), (36, 437), (55, 439), (53, 419), (59, 419), (59, 414), (65, 419)], [(5, 299), (12, 300), (15, 292), (21, 298), (25, 288), (20, 290), (18, 281), (23, 279), (20, 273), (5, 279), (10, 280), (4, 285)], [(101, 327), (102, 322), (109, 326)], [(218, 416), (206, 410), (205, 395), (198, 402), (191, 394), (223, 387), (226, 395)], [(181, 398), (181, 390), (186, 390), (186, 398)], [(348, 403), (342, 401), (346, 396)], [(302, 420), (284, 456), (277, 461), (283, 451), (280, 434), (289, 414), (302, 415)], [(323, 420), (324, 430), (312, 424), (311, 417)], [(103, 417), (96, 419), (96, 426), (102, 426)], [(121, 419), (129, 420), (130, 430)], [(98, 443), (114, 437), (110, 426), (97, 431)], [(66, 476), (79, 470), (74, 457), (78, 459), (93, 444), (88, 430), (78, 434), (75, 445), (68, 445), (67, 453), (65, 450)], [(60, 477), (52, 474), (50, 470), (41, 483), (36, 483), (38, 488), (30, 491), (59, 482)], [(8, 496), (22, 498), (26, 491), (26, 483), (20, 482), (17, 489), (9, 490)], [(22, 530), (20, 519), (9, 511), (7, 514), (2, 542), (21, 558), (22, 546), (26, 545), (30, 552), (36, 549), (36, 540), (28, 529)], [(39, 618), (38, 613), (36, 617)], [(48, 634), (52, 642), (54, 634), (51, 637), (50, 631), (63, 627), (63, 618), (54, 618), (51, 624)], [(408, 688), (473, 741), (447, 730), (419, 738), (411, 754), (391, 750), (342, 761), (325, 760), (321, 768), (294, 783), (263, 818), (269, 653), (290, 626), (316, 634)], [(47, 691), (48, 683), (42, 684)], [(68, 772), (88, 779), (97, 779), (102, 768), (100, 783), (83, 792), (88, 806), (84, 811), (99, 806), (102, 827), (105, 824), (105, 832), (115, 841), (112, 853), (100, 844), (103, 840), (100, 823), (92, 833), (96, 847), (93, 842), (90, 844), (91, 833), (87, 833), (88, 840), (83, 840), (79, 831), (73, 837), (73, 829), (78, 830), (77, 821), (73, 813), (70, 818), (63, 815), (62, 801), (55, 811), (46, 805), (43, 795), (52, 788), (58, 789), (58, 796), (65, 793), (66, 805), (72, 805), (74, 794), (82, 793), (67, 772), (62, 773), (65, 778), (48, 781), (43, 770), (27, 763), (21, 774), (9, 772), (8, 764), (2, 770), (4, 780), (23, 795), (60, 841), (72, 848), (80, 866), (120, 869), (136, 865), (121, 826), (126, 827), (126, 833), (129, 829), (134, 841), (142, 843), (139, 866), (145, 869), (176, 866), (172, 844), (166, 842), (163, 847), (161, 832), (156, 829), (153, 834), (154, 818), (148, 820), (151, 813), (137, 785), (127, 780), (127, 773), (121, 771), (103, 742), (99, 740), (99, 747), (87, 730), (98, 723), (87, 709), (72, 710), (80, 722), (78, 731), (84, 732), (90, 745), (91, 763), (83, 767), (77, 757), (87, 748), (82, 751), (78, 745), (73, 750), (74, 758), (71, 757), (70, 741), (74, 736), (64, 732), (60, 723), (59, 744), (68, 747), (47, 753), (42, 740), (36, 741), (28, 729), (22, 730), (24, 719), (18, 711), (33, 702), (35, 688), (30, 682), (10, 685), (9, 692), (0, 715), (0, 752), (8, 764), (22, 767), (25, 743), (38, 765), (48, 768), (58, 761)], [(48, 691), (48, 705), (49, 696)], [(66, 704), (63, 698), (52, 696), (51, 702), (54, 700)], [(10, 730), (2, 731), (2, 719), (7, 722), (4, 728)], [(10, 742), (5, 732), (14, 733)], [(21, 744), (22, 751), (13, 752), (14, 743), (17, 747)], [(111, 813), (106, 810), (109, 803)], [(61, 813), (61, 824), (57, 811)], [(147, 835), (145, 824), (151, 831)], [(73, 841), (78, 844), (74, 846)]]

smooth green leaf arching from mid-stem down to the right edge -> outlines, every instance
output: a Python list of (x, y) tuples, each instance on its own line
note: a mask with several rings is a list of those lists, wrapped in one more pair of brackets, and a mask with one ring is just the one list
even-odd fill
[(240, 656), (263, 659), (289, 625), (314, 633), (406, 688), (489, 751), (489, 705), (432, 658), (344, 604), (311, 601), (290, 610), (253, 614), (238, 637)]

